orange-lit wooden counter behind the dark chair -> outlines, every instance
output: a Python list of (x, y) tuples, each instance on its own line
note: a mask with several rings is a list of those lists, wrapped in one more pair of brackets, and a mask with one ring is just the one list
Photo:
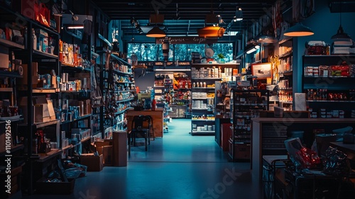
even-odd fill
[(132, 121), (134, 116), (149, 115), (153, 118), (153, 133), (155, 137), (163, 137), (163, 109), (162, 110), (143, 110), (135, 111), (129, 109), (126, 112), (127, 117), (127, 131), (131, 131)]

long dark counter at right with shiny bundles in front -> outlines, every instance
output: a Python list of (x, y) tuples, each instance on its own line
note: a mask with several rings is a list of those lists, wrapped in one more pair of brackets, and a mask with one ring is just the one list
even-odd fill
[(286, 155), (284, 141), (292, 131), (304, 131), (304, 144), (312, 146), (315, 132), (332, 133), (333, 129), (353, 127), (355, 118), (253, 118), (251, 134), (251, 172), (253, 179), (261, 182), (264, 155)]

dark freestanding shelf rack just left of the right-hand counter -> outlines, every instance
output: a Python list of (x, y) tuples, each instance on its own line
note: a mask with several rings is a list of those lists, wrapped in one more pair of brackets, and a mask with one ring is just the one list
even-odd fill
[(268, 90), (231, 89), (232, 134), (229, 139), (231, 161), (249, 161), (251, 158), (251, 119), (259, 117), (260, 110), (268, 110)]

